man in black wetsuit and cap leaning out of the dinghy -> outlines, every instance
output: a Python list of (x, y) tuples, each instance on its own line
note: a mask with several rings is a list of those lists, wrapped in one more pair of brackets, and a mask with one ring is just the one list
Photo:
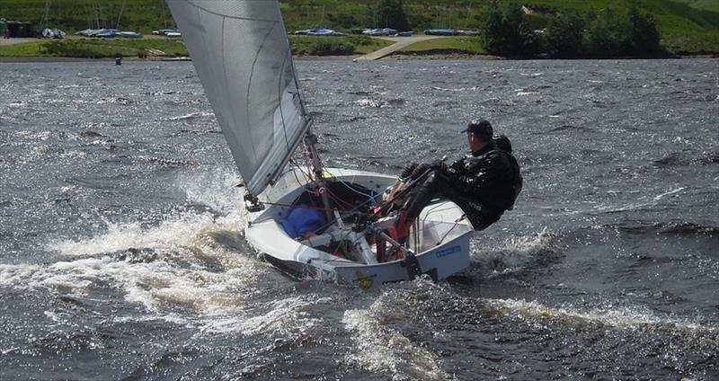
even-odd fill
[(395, 241), (404, 243), (414, 220), (437, 196), (462, 208), (475, 230), (484, 230), (514, 206), (522, 189), (522, 177), (519, 163), (511, 155), (510, 139), (493, 137), (487, 120), (473, 121), (462, 132), (467, 134), (470, 155), (449, 166), (437, 161), (404, 169), (400, 176), (404, 182), (425, 177), (409, 194), (395, 225), (389, 228)]

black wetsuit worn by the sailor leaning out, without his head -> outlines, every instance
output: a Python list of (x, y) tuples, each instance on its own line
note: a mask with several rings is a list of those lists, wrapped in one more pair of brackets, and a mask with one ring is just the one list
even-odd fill
[(514, 206), (522, 188), (519, 163), (510, 150), (492, 141), (448, 167), (415, 165), (411, 178), (418, 178), (430, 168), (432, 171), (411, 193), (405, 205), (407, 217), (418, 217), (422, 208), (439, 195), (462, 208), (475, 230), (497, 222), (505, 210)]

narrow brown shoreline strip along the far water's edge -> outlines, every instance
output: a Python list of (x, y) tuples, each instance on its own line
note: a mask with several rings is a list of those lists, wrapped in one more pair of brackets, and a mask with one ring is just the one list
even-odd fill
[[(296, 61), (345, 61), (352, 62), (361, 55), (351, 56), (296, 56)], [(677, 57), (623, 57), (623, 58), (504, 58), (492, 55), (477, 55), (469, 53), (442, 53), (442, 54), (393, 54), (377, 61), (527, 61), (527, 60), (562, 60), (562, 61), (581, 61), (581, 60), (635, 60), (635, 59), (716, 59), (719, 54), (691, 55)], [(115, 58), (72, 58), (72, 57), (0, 57), (2, 63), (52, 63), (52, 62), (112, 62)], [(137, 58), (123, 57), (123, 62), (188, 62), (188, 58), (169, 58), (169, 57), (153, 57), (153, 58)]]

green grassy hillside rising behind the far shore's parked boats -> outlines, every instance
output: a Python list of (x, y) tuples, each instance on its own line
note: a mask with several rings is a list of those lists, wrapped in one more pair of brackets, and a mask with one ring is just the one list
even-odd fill
[[(404, 0), (404, 11), (414, 31), (428, 28), (475, 29), (489, 2), (478, 0)], [(557, 13), (602, 12), (611, 7), (625, 12), (635, 4), (652, 13), (662, 45), (682, 54), (719, 52), (719, 2), (715, 0), (523, 0), (537, 10), (532, 26), (541, 29)], [(46, 4), (49, 7), (46, 10)], [(382, 27), (373, 5), (377, 0), (281, 0), (288, 31), (317, 26), (349, 31)], [(47, 25), (66, 31), (86, 28), (118, 28), (149, 33), (172, 27), (164, 0), (0, 0), (0, 18), (30, 21), (39, 29)]]

